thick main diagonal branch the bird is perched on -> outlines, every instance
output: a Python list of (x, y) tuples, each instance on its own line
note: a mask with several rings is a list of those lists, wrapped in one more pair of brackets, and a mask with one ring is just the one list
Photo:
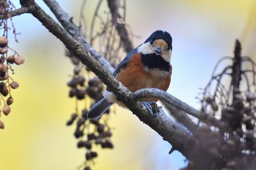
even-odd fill
[(113, 91), (118, 100), (123, 102), (141, 121), (157, 131), (164, 140), (172, 144), (173, 148), (183, 153), (187, 158), (192, 158), (187, 147), (196, 148), (196, 144), (187, 131), (184, 131), (183, 128), (176, 125), (164, 112), (160, 112), (154, 116), (150, 115), (141, 102), (135, 101), (132, 92), (121, 85), (121, 83), (119, 83), (98, 61), (94, 60), (94, 58), (86, 52), (80, 42), (70, 36), (36, 3), (31, 4), (29, 12), (31, 12), (45, 28), (48, 28), (54, 36), (60, 39), (73, 55), (88, 66), (89, 69)]

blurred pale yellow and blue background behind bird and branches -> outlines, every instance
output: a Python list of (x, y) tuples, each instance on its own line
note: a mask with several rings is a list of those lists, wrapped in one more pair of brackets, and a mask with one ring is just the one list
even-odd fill
[[(18, 0), (12, 2), (20, 7)], [(77, 23), (82, 2), (59, 0)], [(37, 3), (50, 14), (42, 1)], [(90, 13), (96, 1), (89, 5)], [(126, 23), (140, 37), (133, 39), (135, 46), (157, 29), (173, 36), (168, 92), (196, 108), (199, 88), (206, 85), (219, 58), (233, 55), (235, 39), (241, 41), (243, 55), (255, 58), (255, 18), (255, 0), (127, 1)], [(10, 115), (1, 116), (5, 129), (0, 131), (0, 169), (77, 169), (85, 151), (76, 147), (75, 127), (65, 125), (75, 102), (67, 97), (72, 64), (64, 57), (64, 45), (31, 15), (13, 21), (20, 35), (19, 43), (10, 36), (10, 47), (26, 61), (13, 68), (20, 88), (12, 91)], [(176, 170), (186, 164), (179, 152), (168, 155), (170, 144), (131, 112), (117, 107), (110, 125), (115, 149), (100, 152), (93, 169)]]

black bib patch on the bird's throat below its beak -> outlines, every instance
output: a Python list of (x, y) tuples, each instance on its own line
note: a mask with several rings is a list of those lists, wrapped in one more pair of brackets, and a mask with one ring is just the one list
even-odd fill
[(169, 72), (170, 63), (165, 61), (160, 55), (152, 54), (140, 54), (143, 66), (148, 69), (159, 69), (165, 72)]

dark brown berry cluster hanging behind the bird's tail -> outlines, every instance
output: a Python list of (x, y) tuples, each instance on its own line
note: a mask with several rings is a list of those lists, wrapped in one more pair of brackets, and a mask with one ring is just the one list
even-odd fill
[[(95, 147), (99, 146), (102, 149), (113, 148), (113, 143), (110, 139), (112, 132), (108, 125), (109, 110), (97, 120), (87, 119), (86, 114), (91, 106), (84, 107), (84, 105), (97, 103), (102, 98), (104, 86), (97, 77), (91, 77), (91, 72), (77, 58), (69, 52), (66, 55), (75, 66), (72, 78), (67, 82), (67, 85), (69, 86), (69, 97), (75, 98), (76, 106), (75, 112), (67, 120), (67, 125), (76, 124), (74, 136), (78, 139), (77, 147), (86, 150), (86, 161), (80, 169), (89, 170), (91, 169), (91, 163), (98, 155), (94, 150)], [(79, 106), (80, 103), (82, 103), (83, 107)]]

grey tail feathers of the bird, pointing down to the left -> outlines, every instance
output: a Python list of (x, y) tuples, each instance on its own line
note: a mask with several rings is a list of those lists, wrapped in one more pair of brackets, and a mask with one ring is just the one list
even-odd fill
[(87, 117), (89, 119), (99, 118), (112, 105), (113, 103), (108, 102), (106, 98), (102, 98), (99, 102), (97, 102), (97, 104), (91, 107), (91, 109), (87, 113)]

